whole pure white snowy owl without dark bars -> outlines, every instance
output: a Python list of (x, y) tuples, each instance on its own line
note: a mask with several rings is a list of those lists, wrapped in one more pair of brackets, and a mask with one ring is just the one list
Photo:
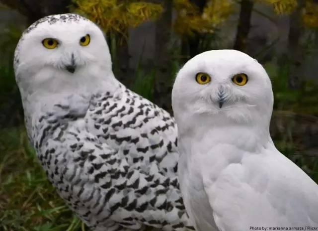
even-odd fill
[(318, 227), (318, 185), (275, 148), (271, 82), (255, 59), (195, 56), (176, 77), (172, 108), (180, 190), (197, 231)]

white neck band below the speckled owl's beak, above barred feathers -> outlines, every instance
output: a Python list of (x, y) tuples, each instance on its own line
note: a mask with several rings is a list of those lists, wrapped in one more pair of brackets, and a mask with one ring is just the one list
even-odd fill
[(36, 73), (24, 72), (22, 77), (17, 78), (22, 98), (39, 98), (39, 101), (43, 97), (54, 101), (65, 95), (95, 94), (102, 91), (112, 93), (120, 85), (111, 70), (94, 70), (89, 67), (73, 74), (45, 67)]

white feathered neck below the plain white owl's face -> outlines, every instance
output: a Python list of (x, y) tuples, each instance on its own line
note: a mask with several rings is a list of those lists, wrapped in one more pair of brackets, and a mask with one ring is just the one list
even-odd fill
[(273, 146), (269, 134), (269, 119), (268, 122), (264, 122), (264, 118), (236, 122), (222, 114), (192, 116), (187, 119), (177, 116), (177, 123), (182, 122), (181, 126), (178, 125), (178, 142), (190, 155), (193, 150), (208, 153), (220, 144), (247, 152), (257, 152), (264, 147)]

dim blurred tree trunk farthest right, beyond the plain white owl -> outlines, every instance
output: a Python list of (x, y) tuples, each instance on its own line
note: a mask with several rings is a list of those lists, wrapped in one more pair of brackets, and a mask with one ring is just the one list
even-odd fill
[(291, 89), (299, 89), (301, 87), (301, 79), (303, 77), (305, 53), (300, 41), (304, 32), (304, 27), (302, 26), (301, 21), (302, 7), (303, 4), (299, 3), (296, 10), (290, 15), (289, 20), (287, 60), (289, 62), (288, 85)]

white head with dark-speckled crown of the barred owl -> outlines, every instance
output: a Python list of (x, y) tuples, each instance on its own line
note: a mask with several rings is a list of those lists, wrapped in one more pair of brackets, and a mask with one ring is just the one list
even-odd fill
[(14, 67), (24, 88), (59, 88), (111, 73), (111, 58), (103, 33), (93, 22), (77, 14), (59, 14), (26, 29)]

